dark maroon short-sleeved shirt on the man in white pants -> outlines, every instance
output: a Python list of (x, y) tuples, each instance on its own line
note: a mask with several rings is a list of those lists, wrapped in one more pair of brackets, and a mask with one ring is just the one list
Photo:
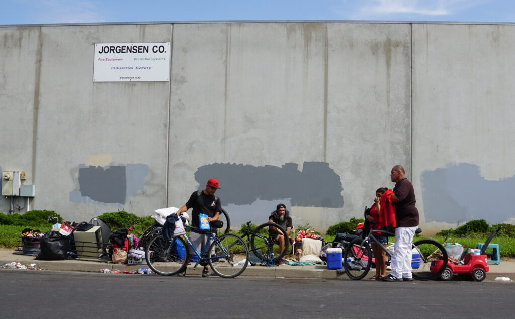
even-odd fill
[(395, 204), (395, 219), (397, 227), (414, 227), (419, 225), (419, 213), (415, 203), (413, 184), (406, 178), (401, 178), (393, 188), (393, 193), (399, 202)]

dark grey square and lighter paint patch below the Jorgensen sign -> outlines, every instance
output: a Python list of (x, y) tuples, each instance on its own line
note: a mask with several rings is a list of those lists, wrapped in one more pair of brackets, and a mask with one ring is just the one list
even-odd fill
[(145, 186), (146, 164), (100, 166), (79, 165), (79, 190), (70, 192), (70, 201), (87, 205), (111, 204), (123, 207), (127, 196)]

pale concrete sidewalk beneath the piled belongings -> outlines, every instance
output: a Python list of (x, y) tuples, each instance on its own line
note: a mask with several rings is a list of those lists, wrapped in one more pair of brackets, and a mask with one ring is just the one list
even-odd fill
[[(35, 256), (15, 255), (13, 249), (0, 248), (0, 264), (12, 261), (22, 264), (38, 264), (43, 270), (51, 271), (72, 271), (72, 272), (98, 272), (102, 268), (119, 271), (133, 271), (146, 265), (118, 265), (113, 263), (99, 262), (92, 260), (36, 260)], [(515, 261), (502, 260), (500, 265), (489, 264), (490, 271), (485, 281), (495, 281), (496, 277), (509, 277), (515, 281)], [(196, 270), (188, 267), (187, 275), (201, 275), (202, 267)], [(373, 274), (374, 270), (372, 270)], [(329, 270), (325, 265), (290, 266), (280, 265), (277, 267), (262, 267), (259, 265), (248, 266), (241, 276), (250, 277), (276, 277), (276, 278), (321, 278), (321, 279), (348, 279), (347, 275), (338, 275), (335, 270)]]

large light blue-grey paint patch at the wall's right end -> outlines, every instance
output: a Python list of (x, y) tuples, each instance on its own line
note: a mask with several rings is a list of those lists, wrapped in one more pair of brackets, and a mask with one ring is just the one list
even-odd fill
[(503, 223), (513, 217), (511, 205), (515, 176), (486, 180), (479, 167), (469, 163), (448, 164), (422, 173), (422, 196), (426, 222), (484, 219)]

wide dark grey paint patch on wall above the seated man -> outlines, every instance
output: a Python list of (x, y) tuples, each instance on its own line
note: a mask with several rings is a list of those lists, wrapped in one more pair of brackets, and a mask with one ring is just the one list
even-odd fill
[(281, 167), (213, 163), (200, 166), (195, 172), (200, 188), (209, 178), (220, 181), (221, 189), (217, 194), (222, 205), (250, 205), (257, 199), (290, 198), (291, 206), (344, 206), (340, 176), (327, 162), (304, 162), (302, 172), (296, 163), (285, 163)]

